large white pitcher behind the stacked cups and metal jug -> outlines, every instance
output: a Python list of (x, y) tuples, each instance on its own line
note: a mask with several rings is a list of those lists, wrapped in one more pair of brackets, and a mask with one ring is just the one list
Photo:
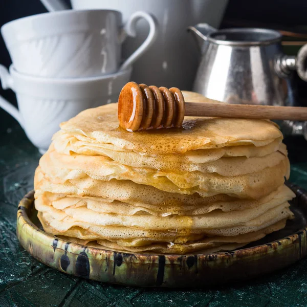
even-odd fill
[[(67, 9), (60, 0), (41, 0), (49, 10)], [(130, 14), (142, 10), (150, 12), (159, 22), (155, 44), (134, 63), (132, 80), (158, 86), (177, 86), (191, 90), (199, 64), (188, 26), (208, 23), (217, 28), (228, 0), (71, 0), (75, 10), (112, 9), (121, 11), (125, 22)], [(137, 39), (127, 39), (123, 56), (133, 52), (145, 39), (148, 25), (137, 24)]]

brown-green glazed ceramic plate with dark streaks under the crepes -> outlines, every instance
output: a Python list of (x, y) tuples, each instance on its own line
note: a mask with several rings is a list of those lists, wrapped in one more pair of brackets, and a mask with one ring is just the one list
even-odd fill
[(248, 279), (293, 264), (307, 254), (307, 193), (290, 185), (295, 219), (286, 228), (231, 252), (150, 255), (108, 251), (64, 241), (44, 232), (34, 208), (34, 192), (21, 200), (17, 237), (36, 259), (59, 271), (128, 286), (202, 287)]

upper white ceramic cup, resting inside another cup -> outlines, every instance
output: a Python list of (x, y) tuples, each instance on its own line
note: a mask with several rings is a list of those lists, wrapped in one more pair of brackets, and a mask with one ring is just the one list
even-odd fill
[[(122, 42), (127, 36), (136, 36), (139, 19), (146, 20), (149, 34), (121, 64)], [(79, 78), (125, 70), (150, 47), (157, 26), (145, 12), (131, 14), (122, 27), (122, 14), (118, 11), (66, 10), (10, 21), (1, 32), (19, 73)]]

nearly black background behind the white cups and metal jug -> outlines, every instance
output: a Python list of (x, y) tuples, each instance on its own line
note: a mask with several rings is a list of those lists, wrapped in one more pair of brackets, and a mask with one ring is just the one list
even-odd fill
[[(69, 3), (68, 0), (66, 1)], [(44, 12), (47, 12), (47, 10), (39, 0), (0, 0), (0, 27), (16, 18)], [(307, 0), (230, 0), (221, 28), (238, 26), (267, 27), (277, 30), (307, 33)], [(304, 40), (307, 41), (307, 38)], [(294, 52), (296, 52), (295, 49)], [(9, 67), (11, 63), (2, 37), (0, 37), (0, 63), (6, 67)], [(299, 80), (297, 75), (294, 76), (294, 80), (297, 83), (300, 104), (307, 105), (306, 83)], [(15, 95), (12, 91), (3, 91), (0, 89), (0, 95), (16, 103)], [(0, 109), (0, 118), (2, 119), (0, 121), (0, 135), (14, 121), (11, 116), (3, 115), (4, 111)]]

